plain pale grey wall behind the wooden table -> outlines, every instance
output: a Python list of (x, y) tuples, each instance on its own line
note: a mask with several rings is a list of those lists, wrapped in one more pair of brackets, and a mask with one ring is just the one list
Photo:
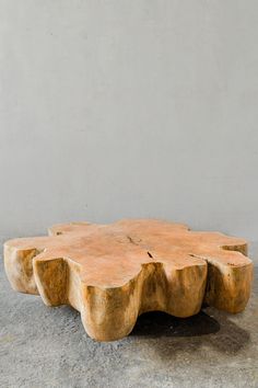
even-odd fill
[(0, 0), (0, 235), (257, 238), (258, 1)]

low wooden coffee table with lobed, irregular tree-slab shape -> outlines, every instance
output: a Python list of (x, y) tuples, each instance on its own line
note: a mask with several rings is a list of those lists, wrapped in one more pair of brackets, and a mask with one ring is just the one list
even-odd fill
[(243, 239), (155, 219), (57, 225), (49, 235), (5, 242), (9, 281), (48, 306), (81, 311), (98, 341), (129, 334), (145, 311), (189, 317), (206, 303), (238, 312), (249, 298), (253, 264)]

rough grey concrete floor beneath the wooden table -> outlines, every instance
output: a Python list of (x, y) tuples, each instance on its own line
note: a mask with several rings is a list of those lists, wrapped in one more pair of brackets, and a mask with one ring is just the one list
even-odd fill
[[(257, 243), (250, 256), (258, 264)], [(244, 313), (148, 313), (128, 338), (97, 343), (75, 310), (13, 292), (1, 260), (0, 387), (258, 387), (257, 296), (256, 274)]]

